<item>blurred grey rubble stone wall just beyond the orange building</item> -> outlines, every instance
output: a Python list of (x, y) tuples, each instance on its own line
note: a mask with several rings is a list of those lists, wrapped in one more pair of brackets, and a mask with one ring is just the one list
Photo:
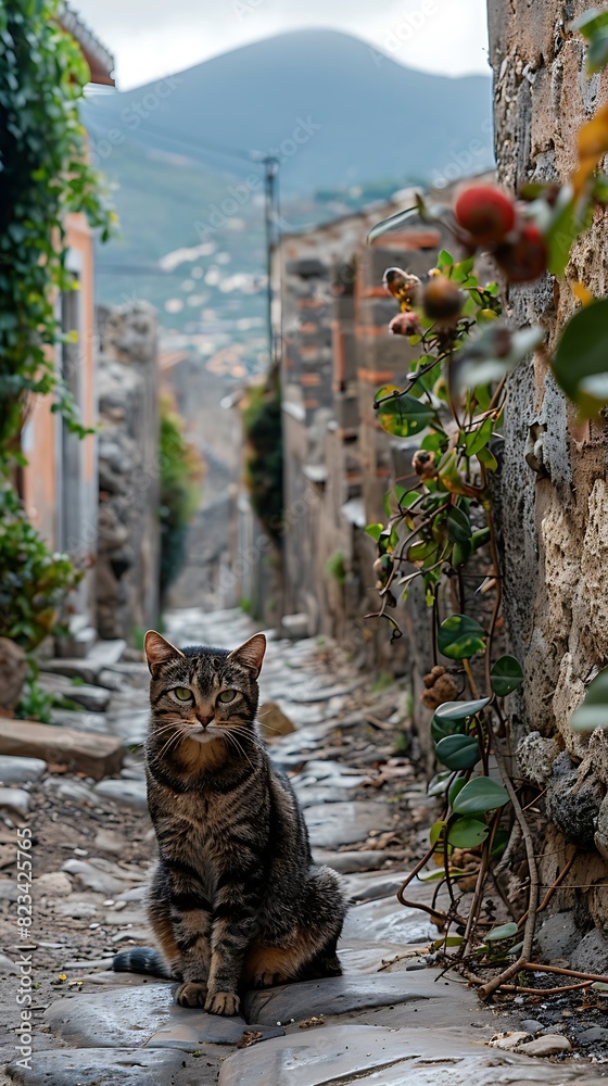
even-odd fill
[(98, 311), (100, 637), (132, 640), (159, 619), (156, 313)]

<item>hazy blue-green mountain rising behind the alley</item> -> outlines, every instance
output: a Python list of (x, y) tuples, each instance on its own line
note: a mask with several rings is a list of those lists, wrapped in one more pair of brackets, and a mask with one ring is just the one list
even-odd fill
[[(207, 312), (217, 313), (217, 303), (229, 312), (230, 294), (245, 283), (239, 275), (249, 276), (245, 312), (259, 313), (262, 155), (280, 163), (282, 213), (293, 228), (411, 181), (445, 182), (487, 167), (490, 117), (490, 78), (413, 71), (333, 30), (282, 34), (91, 98), (84, 121), (93, 161), (119, 186), (124, 236), (100, 256), (101, 298), (140, 292), (162, 307), (170, 300), (166, 321), (195, 325), (198, 303), (187, 305), (175, 281), (165, 281), (183, 267), (159, 274), (157, 262), (207, 243), (215, 248), (201, 254), (205, 287), (193, 298), (204, 296)], [(211, 282), (210, 257), (220, 257)], [(186, 313), (197, 319), (186, 321)]]

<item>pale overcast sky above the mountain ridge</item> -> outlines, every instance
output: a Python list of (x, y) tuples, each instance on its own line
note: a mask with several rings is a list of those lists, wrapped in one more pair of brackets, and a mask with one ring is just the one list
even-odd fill
[(343, 30), (402, 64), (487, 72), (485, 0), (73, 0), (123, 90), (283, 30)]

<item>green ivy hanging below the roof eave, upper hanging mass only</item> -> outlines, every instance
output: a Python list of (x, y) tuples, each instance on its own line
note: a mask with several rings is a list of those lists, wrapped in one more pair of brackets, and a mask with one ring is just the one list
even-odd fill
[[(113, 214), (87, 163), (78, 100), (90, 78), (56, 0), (0, 7), (0, 471), (23, 460), (20, 435), (33, 395), (53, 395), (83, 434), (54, 366), (63, 337), (54, 301), (77, 283), (65, 267), (64, 220), (83, 212), (105, 239)], [(73, 333), (67, 333), (69, 338)]]

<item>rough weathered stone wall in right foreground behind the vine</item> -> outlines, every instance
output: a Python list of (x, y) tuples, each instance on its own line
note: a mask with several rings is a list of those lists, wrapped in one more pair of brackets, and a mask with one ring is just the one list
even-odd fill
[[(587, 2), (490, 0), (499, 179), (566, 179), (577, 131), (607, 100), (608, 80), (584, 74), (584, 48), (569, 22)], [(575, 308), (573, 281), (607, 293), (606, 216), (596, 213), (563, 281), (546, 276), (511, 288), (516, 325), (541, 321), (549, 348)], [(529, 453), (530, 464), (525, 459)], [(605, 424), (577, 424), (537, 355), (509, 379), (502, 478), (505, 613), (527, 682), (512, 714), (516, 770), (546, 788), (543, 896), (556, 871), (579, 857), (552, 908), (577, 907), (585, 927), (608, 921), (608, 737), (575, 736), (569, 718), (585, 683), (608, 662), (608, 441)], [(541, 849), (541, 845), (540, 845)]]

